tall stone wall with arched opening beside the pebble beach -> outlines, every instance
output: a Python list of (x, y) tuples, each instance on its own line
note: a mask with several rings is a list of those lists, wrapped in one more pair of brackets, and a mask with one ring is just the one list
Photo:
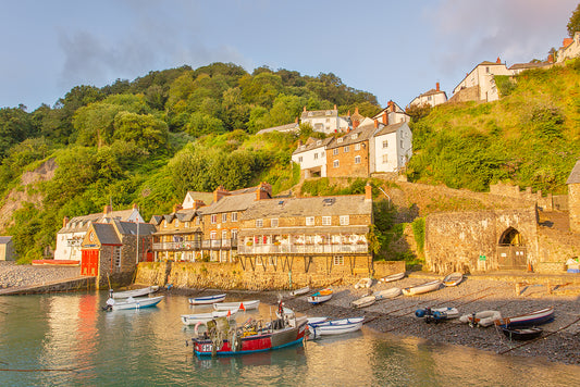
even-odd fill
[(534, 208), (431, 214), (425, 219), (425, 264), (435, 273), (472, 273), (484, 255), (484, 270), (498, 267), (496, 248), (513, 227), (527, 246), (528, 262), (538, 262), (538, 223)]

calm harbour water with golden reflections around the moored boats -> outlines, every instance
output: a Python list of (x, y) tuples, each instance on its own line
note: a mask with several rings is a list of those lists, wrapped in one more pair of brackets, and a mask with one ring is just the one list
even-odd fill
[[(187, 298), (102, 312), (106, 292), (0, 298), (2, 386), (578, 386), (580, 366), (363, 330), (305, 346), (199, 360)], [(270, 307), (248, 313), (268, 317)], [(272, 309), (273, 311), (273, 309)], [(246, 316), (247, 317), (247, 316)], [(11, 370), (11, 371), (7, 371)]]

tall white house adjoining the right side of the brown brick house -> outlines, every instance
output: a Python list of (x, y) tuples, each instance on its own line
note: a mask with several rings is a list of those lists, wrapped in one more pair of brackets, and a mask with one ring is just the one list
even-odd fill
[(412, 155), (412, 133), (406, 122), (382, 126), (370, 143), (370, 171), (398, 172)]

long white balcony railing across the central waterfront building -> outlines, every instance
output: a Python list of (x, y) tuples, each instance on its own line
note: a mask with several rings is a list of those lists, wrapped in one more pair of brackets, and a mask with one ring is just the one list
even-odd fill
[(238, 254), (340, 254), (367, 253), (367, 244), (336, 245), (238, 245)]

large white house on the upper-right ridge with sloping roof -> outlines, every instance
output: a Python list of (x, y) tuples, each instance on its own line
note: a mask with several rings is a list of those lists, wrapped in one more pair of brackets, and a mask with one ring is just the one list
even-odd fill
[[(499, 99), (495, 85), (495, 75), (514, 75), (499, 58), (494, 62), (481, 62), (453, 89), (453, 100), (496, 101)], [(461, 98), (460, 95), (464, 95)], [(467, 96), (468, 97), (465, 97)], [(456, 97), (457, 96), (457, 97)]]

